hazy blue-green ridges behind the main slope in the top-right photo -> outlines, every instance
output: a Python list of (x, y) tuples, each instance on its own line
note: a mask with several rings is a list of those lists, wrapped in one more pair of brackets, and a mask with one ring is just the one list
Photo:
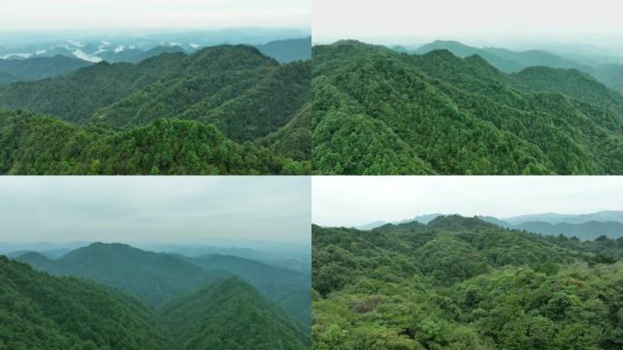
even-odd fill
[(424, 55), (434, 50), (448, 50), (457, 57), (469, 57), (477, 55), (484, 58), (490, 65), (506, 73), (517, 73), (526, 67), (552, 67), (564, 69), (577, 69), (597, 78), (608, 88), (623, 92), (623, 64), (620, 62), (609, 64), (588, 64), (578, 62), (573, 58), (562, 57), (546, 50), (529, 50), (523, 52), (511, 51), (499, 47), (466, 46), (458, 41), (437, 40), (416, 49), (394, 47), (397, 51)]

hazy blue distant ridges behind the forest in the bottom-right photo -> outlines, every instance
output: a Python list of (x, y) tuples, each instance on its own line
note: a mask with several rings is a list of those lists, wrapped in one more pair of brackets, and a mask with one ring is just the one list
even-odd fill
[[(383, 225), (399, 225), (408, 222), (427, 224), (445, 214), (435, 213), (416, 216), (403, 221), (386, 222), (373, 221), (357, 226), (358, 230), (373, 230)], [(521, 215), (511, 218), (498, 219), (492, 216), (479, 216), (482, 221), (494, 223), (497, 226), (513, 230), (522, 230), (546, 235), (563, 234), (567, 237), (577, 237), (580, 240), (594, 241), (599, 236), (611, 239), (623, 237), (623, 211), (597, 211), (590, 214), (558, 214), (542, 213)]]

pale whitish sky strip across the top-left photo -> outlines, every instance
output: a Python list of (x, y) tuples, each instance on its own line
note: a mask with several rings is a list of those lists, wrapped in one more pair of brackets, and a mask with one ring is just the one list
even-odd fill
[(0, 31), (304, 27), (311, 0), (3, 0)]

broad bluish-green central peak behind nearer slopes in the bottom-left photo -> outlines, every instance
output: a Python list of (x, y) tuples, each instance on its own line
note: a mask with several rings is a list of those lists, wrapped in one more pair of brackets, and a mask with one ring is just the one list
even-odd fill
[(154, 307), (162, 307), (181, 293), (228, 275), (204, 271), (168, 254), (145, 252), (118, 243), (93, 243), (56, 260), (37, 253), (16, 259), (46, 273), (82, 276), (117, 287)]

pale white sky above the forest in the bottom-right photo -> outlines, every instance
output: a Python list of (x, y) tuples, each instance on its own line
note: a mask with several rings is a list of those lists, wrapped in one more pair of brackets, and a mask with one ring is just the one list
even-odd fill
[(555, 176), (313, 177), (312, 221), (355, 226), (417, 215), (623, 211), (623, 178)]

